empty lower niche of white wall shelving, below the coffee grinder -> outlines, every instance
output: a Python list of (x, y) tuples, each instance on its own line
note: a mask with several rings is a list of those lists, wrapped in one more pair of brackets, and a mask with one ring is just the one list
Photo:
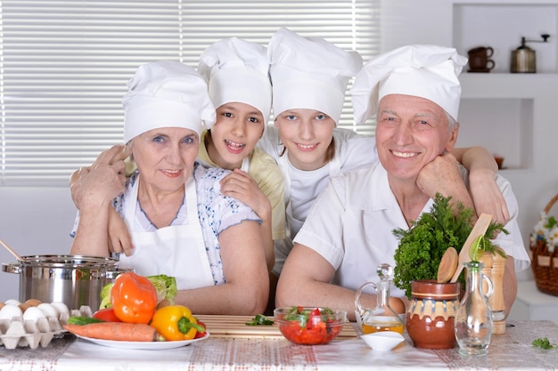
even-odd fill
[(541, 146), (556, 134), (546, 125), (558, 114), (558, 74), (465, 73), (460, 80), (459, 146), (484, 146), (505, 157), (510, 170), (547, 161), (550, 153)]

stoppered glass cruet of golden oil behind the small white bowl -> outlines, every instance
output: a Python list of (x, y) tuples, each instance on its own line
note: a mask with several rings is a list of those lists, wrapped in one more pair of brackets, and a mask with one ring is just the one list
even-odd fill
[[(403, 334), (405, 324), (399, 317), (398, 313), (393, 311), (390, 307), (390, 286), (393, 276), (393, 268), (390, 264), (382, 263), (378, 265), (376, 270), (380, 282), (374, 284), (373, 282), (366, 282), (360, 286), (355, 296), (355, 315), (357, 317), (358, 327), (363, 334), (370, 334), (380, 331), (395, 331)], [(376, 290), (376, 306), (373, 309), (365, 309), (360, 304), (360, 295), (366, 286), (373, 286)]]

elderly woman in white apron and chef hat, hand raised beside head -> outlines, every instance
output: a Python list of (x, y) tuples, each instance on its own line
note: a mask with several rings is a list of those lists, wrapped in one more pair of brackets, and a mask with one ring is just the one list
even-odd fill
[[(182, 63), (141, 66), (128, 83), (122, 156), (115, 147), (80, 179), (80, 214), (71, 254), (109, 256), (109, 205), (126, 221), (133, 254), (120, 267), (176, 277), (176, 303), (203, 314), (254, 315), (269, 291), (260, 222), (223, 196), (230, 173), (195, 158), (202, 124), (215, 122), (204, 79)], [(137, 170), (125, 182), (123, 158)]]

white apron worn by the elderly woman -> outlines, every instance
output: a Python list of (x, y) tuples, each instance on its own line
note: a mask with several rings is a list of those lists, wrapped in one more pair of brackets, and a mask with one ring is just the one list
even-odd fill
[(178, 290), (213, 286), (213, 275), (198, 219), (193, 176), (185, 182), (188, 223), (150, 232), (134, 230), (139, 180), (138, 176), (124, 214), (134, 250), (131, 256), (120, 254), (119, 267), (134, 268), (142, 276), (166, 274), (175, 277)]

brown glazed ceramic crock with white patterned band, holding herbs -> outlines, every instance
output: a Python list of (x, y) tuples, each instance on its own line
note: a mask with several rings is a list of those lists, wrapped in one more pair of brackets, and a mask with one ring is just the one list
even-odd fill
[(459, 306), (459, 283), (436, 280), (411, 282), (406, 332), (417, 348), (451, 349), (456, 345), (454, 323)]

